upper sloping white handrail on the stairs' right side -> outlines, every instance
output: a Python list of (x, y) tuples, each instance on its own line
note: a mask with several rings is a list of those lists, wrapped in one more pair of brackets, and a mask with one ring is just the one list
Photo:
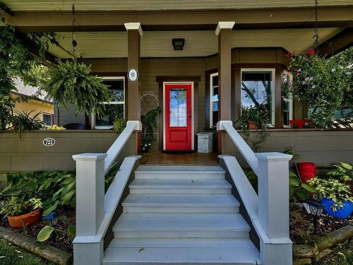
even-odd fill
[(240, 136), (236, 129), (234, 129), (232, 122), (225, 121), (220, 122), (220, 129), (225, 129), (230, 139), (232, 139), (233, 143), (239, 149), (241, 155), (244, 156), (246, 162), (250, 165), (253, 172), (258, 174), (258, 158), (256, 158), (255, 153), (251, 150), (250, 146), (244, 141), (244, 139)]

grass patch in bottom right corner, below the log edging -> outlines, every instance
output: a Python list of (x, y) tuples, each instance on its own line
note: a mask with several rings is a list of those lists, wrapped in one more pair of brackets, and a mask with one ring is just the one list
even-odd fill
[(345, 245), (336, 247), (328, 256), (318, 260), (317, 265), (352, 265), (353, 240)]

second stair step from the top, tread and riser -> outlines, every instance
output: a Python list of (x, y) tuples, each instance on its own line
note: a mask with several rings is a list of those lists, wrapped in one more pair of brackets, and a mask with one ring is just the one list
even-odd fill
[(232, 185), (225, 179), (135, 179), (131, 194), (231, 194)]

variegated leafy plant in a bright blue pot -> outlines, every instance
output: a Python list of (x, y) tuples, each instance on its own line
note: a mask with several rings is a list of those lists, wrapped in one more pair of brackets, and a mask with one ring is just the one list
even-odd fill
[[(349, 185), (338, 179), (320, 179), (314, 177), (308, 180), (314, 187), (325, 212), (337, 218), (349, 218), (353, 211), (353, 196)], [(315, 196), (315, 195), (314, 195)]]

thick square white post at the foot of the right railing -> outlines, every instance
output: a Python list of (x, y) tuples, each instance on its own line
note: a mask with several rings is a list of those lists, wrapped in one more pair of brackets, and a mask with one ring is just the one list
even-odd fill
[(289, 160), (283, 153), (256, 153), (258, 218), (270, 239), (261, 242), (261, 264), (292, 265), (289, 240)]

